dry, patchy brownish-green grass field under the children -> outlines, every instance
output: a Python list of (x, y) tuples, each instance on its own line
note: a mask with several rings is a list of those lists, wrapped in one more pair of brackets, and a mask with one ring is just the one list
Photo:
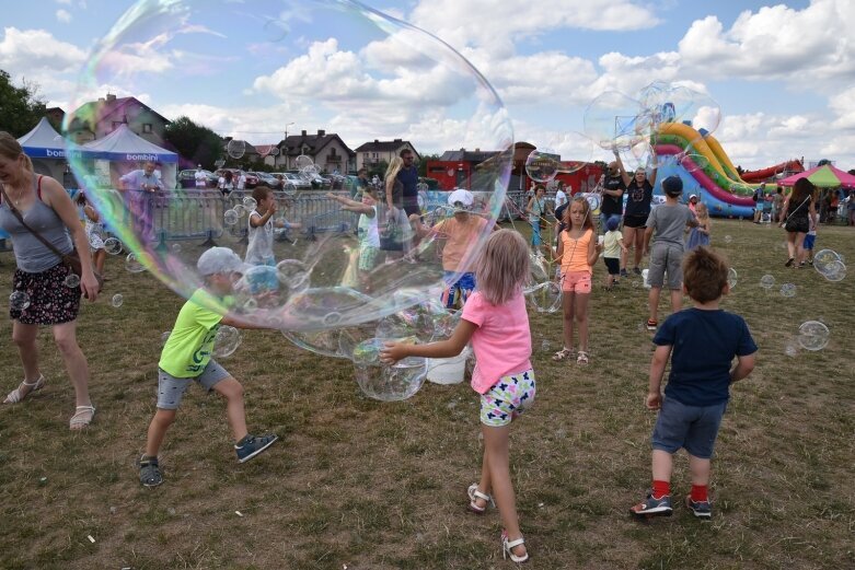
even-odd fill
[[(650, 479), (647, 291), (631, 281), (602, 291), (598, 265), (587, 368), (552, 362), (561, 316), (531, 314), (538, 402), (511, 434), (529, 568), (855, 567), (853, 276), (832, 283), (787, 269), (783, 241), (776, 228), (714, 222), (713, 244), (739, 274), (724, 307), (746, 317), (760, 351), (723, 423), (709, 522), (681, 507), (649, 523), (627, 514)], [(855, 264), (855, 229), (822, 226), (817, 244)], [(9, 291), (12, 255), (0, 254), (0, 291)], [(762, 289), (766, 274), (795, 283), (796, 296)], [(223, 404), (192, 387), (161, 454), (164, 485), (140, 487), (135, 462), (154, 410), (160, 336), (183, 300), (148, 274), (126, 272), (120, 258), (108, 259), (107, 275), (104, 295), (79, 322), (94, 423), (68, 430), (72, 391), (48, 329), (48, 386), (0, 406), (0, 568), (512, 566), (501, 560), (498, 513), (465, 510), (481, 468), (469, 385), (428, 383), (407, 402), (374, 402), (359, 393), (349, 361), (301, 351), (275, 331), (246, 333), (222, 363), (244, 384), (251, 431), (281, 441), (239, 465)], [(109, 304), (115, 293), (125, 298), (119, 309)], [(829, 326), (828, 347), (786, 356), (808, 319)], [(0, 323), (4, 394), (22, 372), (10, 322)], [(683, 454), (673, 489), (681, 505)]]

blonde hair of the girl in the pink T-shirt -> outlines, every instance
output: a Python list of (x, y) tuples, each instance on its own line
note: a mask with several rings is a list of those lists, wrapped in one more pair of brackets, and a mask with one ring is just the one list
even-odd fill
[(493, 305), (504, 305), (528, 283), (529, 245), (519, 232), (494, 232), (481, 252), (475, 279), (478, 291)]

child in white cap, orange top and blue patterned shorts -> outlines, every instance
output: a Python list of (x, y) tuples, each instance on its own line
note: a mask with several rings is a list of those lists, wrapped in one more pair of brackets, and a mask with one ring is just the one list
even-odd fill
[(485, 232), (487, 220), (470, 213), (474, 201), (471, 191), (458, 188), (448, 197), (448, 203), (454, 211), (453, 217), (446, 218), (432, 228), (420, 224), (418, 214), (409, 217), (411, 223), (417, 224), (415, 228), (419, 237), (434, 234), (446, 241), (442, 247), (442, 270), (448, 287), (442, 292), (442, 302), (449, 309), (463, 306), (475, 290), (475, 258), (470, 255), (470, 245)]

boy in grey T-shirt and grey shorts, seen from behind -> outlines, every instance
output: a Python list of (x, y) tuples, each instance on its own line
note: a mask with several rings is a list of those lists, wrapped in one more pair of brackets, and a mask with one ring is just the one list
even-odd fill
[(678, 201), (683, 194), (683, 181), (680, 176), (669, 176), (662, 181), (665, 203), (650, 211), (647, 218), (647, 229), (644, 232), (644, 253), (649, 251), (650, 237), (654, 232), (654, 249), (650, 253), (650, 271), (648, 281), (650, 293), (648, 298), (650, 317), (647, 319), (647, 330), (656, 330), (659, 326), (659, 294), (668, 274), (668, 288), (671, 290), (671, 312), (677, 313), (683, 306), (683, 231), (685, 226), (695, 228), (697, 220), (688, 206)]

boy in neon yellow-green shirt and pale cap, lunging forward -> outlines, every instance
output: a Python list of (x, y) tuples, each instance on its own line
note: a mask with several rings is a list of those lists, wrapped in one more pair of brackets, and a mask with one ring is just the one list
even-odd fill
[(232, 292), (232, 283), (247, 268), (228, 247), (211, 247), (197, 261), (205, 287), (184, 303), (158, 363), (158, 409), (149, 424), (146, 453), (139, 461), (139, 480), (146, 487), (163, 482), (158, 452), (187, 386), (198, 382), (226, 398), (226, 417), (234, 435), (238, 461), (244, 463), (269, 447), (277, 437), (250, 435), (243, 408), (243, 386), (211, 358), (220, 326), (264, 328), (223, 316), (215, 309)]

